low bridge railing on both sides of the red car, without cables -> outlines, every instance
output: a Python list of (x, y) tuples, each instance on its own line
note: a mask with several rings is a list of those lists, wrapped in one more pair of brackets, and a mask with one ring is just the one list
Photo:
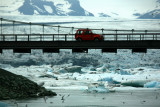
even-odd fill
[[(160, 33), (103, 34), (104, 41), (160, 40)], [(2, 34), (0, 41), (76, 41), (74, 34)]]

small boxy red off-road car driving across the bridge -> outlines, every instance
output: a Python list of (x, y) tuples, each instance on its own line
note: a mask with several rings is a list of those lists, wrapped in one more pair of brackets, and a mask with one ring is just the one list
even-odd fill
[(91, 29), (78, 29), (75, 34), (77, 41), (103, 41), (103, 35), (92, 33)]

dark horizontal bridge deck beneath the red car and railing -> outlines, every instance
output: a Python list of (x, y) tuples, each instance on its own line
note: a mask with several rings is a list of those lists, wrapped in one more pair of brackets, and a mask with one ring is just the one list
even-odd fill
[(160, 40), (145, 40), (145, 41), (103, 41), (103, 42), (77, 42), (77, 41), (0, 41), (0, 49), (160, 49)]

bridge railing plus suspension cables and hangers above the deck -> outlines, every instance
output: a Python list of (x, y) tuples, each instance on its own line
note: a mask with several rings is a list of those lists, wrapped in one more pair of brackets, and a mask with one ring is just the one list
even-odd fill
[[(0, 41), (75, 41), (75, 27), (0, 18)], [(87, 29), (87, 28), (83, 28)], [(160, 30), (92, 29), (105, 41), (160, 40)]]

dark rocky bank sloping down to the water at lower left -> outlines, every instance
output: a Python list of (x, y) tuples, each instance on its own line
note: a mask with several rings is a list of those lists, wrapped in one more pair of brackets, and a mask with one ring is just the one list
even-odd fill
[(0, 69), (0, 100), (25, 99), (30, 97), (55, 96), (33, 81)]

